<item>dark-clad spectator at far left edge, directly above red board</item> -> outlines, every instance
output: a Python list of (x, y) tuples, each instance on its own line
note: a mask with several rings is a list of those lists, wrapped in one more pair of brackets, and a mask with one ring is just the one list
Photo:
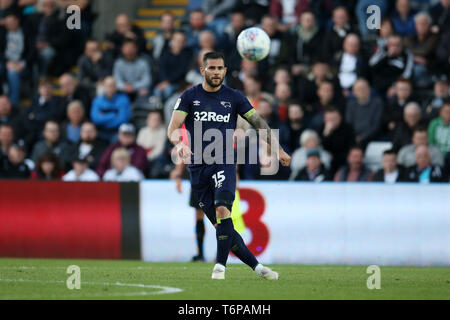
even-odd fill
[(8, 157), (0, 162), (0, 178), (28, 179), (30, 168), (25, 164), (26, 147), (23, 143), (12, 144), (8, 150)]

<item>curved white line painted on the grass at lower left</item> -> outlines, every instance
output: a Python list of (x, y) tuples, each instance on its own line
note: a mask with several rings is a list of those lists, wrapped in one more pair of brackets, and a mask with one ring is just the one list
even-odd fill
[[(32, 283), (65, 283), (63, 280), (27, 280), (27, 279), (0, 279), (0, 282), (32, 282)], [(122, 283), (122, 282), (81, 282), (81, 285), (101, 285), (101, 286), (118, 286), (118, 287), (138, 287), (144, 289), (159, 289), (158, 291), (138, 291), (138, 292), (112, 292), (112, 293), (92, 293), (87, 297), (133, 297), (133, 296), (147, 296), (147, 295), (160, 295), (160, 294), (170, 294), (170, 293), (178, 293), (183, 290), (180, 288), (152, 285), (152, 284), (140, 284), (140, 283)], [(82, 290), (82, 289), (80, 289)], [(74, 291), (77, 292), (77, 291)], [(74, 295), (36, 295), (31, 294), (27, 296), (0, 296), (0, 299), (5, 300), (15, 300), (15, 299), (32, 299), (32, 298), (49, 298), (54, 297), (56, 299), (68, 299), (68, 298), (76, 298)], [(83, 296), (83, 299), (86, 297)]]

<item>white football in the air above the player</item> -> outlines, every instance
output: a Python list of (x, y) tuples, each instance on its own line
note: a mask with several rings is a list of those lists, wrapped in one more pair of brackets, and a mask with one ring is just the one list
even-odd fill
[(247, 28), (239, 34), (236, 45), (242, 58), (260, 61), (269, 54), (270, 38), (263, 29)]

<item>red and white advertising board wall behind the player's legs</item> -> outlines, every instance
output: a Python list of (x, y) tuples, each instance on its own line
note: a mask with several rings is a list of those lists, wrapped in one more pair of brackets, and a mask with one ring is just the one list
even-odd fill
[[(242, 181), (239, 191), (242, 235), (263, 263), (450, 266), (450, 185)], [(0, 181), (0, 256), (189, 261), (188, 200), (188, 182), (177, 193), (171, 181)], [(207, 260), (215, 252), (207, 223)]]

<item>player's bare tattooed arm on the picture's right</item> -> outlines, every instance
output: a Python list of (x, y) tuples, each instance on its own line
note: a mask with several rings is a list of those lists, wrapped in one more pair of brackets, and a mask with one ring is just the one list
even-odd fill
[[(283, 150), (280, 145), (280, 142), (276, 138), (275, 134), (272, 132), (272, 129), (269, 127), (267, 122), (261, 118), (261, 116), (256, 112), (255, 109), (251, 109), (244, 115), (244, 118), (252, 125), (256, 130), (264, 130), (265, 133), (265, 142), (267, 143), (269, 154), (272, 153), (272, 150), (278, 150), (277, 156), (280, 163), (287, 167), (291, 162), (291, 157)], [(259, 131), (261, 132), (261, 131)]]

